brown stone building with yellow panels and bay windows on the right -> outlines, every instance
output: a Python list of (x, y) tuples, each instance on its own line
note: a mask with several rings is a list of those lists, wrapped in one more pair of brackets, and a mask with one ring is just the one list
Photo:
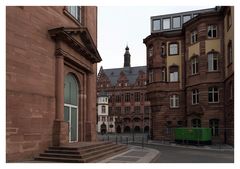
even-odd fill
[(234, 144), (234, 7), (151, 17), (147, 92), (153, 139), (175, 127), (210, 127)]

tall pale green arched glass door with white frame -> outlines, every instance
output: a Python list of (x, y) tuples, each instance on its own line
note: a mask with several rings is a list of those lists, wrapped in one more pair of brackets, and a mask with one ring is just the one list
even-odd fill
[(64, 79), (64, 120), (69, 123), (69, 142), (78, 141), (78, 83), (72, 74)]

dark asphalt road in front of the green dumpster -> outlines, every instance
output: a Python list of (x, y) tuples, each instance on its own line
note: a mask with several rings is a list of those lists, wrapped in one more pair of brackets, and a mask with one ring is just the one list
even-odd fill
[(196, 150), (188, 148), (145, 145), (160, 151), (154, 163), (233, 163), (233, 151)]

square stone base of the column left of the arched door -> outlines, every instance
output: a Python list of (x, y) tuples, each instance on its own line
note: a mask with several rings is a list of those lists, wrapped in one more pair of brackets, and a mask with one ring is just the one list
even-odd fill
[(53, 146), (60, 146), (69, 142), (68, 122), (55, 120), (53, 124)]

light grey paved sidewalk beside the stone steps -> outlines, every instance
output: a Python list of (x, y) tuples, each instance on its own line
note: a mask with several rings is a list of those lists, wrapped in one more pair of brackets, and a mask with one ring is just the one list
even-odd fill
[(151, 148), (129, 145), (129, 150), (98, 163), (150, 163), (160, 155), (160, 152)]

